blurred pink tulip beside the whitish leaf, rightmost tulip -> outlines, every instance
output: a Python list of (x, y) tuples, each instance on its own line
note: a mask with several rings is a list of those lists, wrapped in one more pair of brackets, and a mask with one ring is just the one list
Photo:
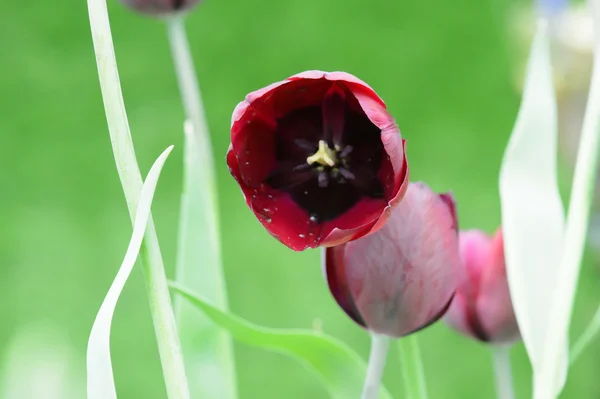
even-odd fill
[(520, 339), (510, 299), (502, 230), (490, 238), (479, 230), (461, 232), (463, 280), (444, 321), (483, 342), (510, 344)]

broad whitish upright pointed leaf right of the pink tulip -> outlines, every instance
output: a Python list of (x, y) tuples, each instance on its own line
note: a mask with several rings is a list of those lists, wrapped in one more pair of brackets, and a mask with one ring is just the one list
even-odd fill
[[(563, 251), (565, 216), (558, 191), (556, 157), (556, 99), (547, 26), (540, 21), (521, 108), (500, 170), (508, 283), (534, 372), (540, 370), (544, 361)], [(558, 391), (561, 389), (562, 385)]]

